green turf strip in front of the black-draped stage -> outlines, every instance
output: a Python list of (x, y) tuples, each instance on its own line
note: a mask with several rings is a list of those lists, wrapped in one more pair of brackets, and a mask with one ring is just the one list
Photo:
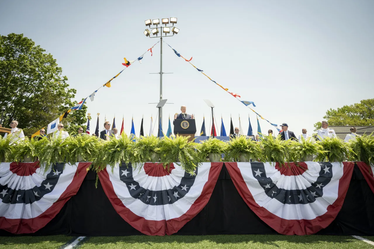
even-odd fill
[[(363, 236), (374, 241), (374, 237)], [(63, 249), (77, 237), (0, 237), (0, 249)], [(351, 236), (284, 236), (284, 235), (212, 235), (212, 236), (127, 236), (127, 237), (89, 237), (74, 248), (79, 249), (168, 249), (168, 248), (317, 248), (346, 249), (371, 248), (364, 241)]]

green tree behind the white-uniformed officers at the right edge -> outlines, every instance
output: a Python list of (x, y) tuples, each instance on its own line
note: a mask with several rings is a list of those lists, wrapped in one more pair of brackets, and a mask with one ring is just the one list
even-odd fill
[[(329, 125), (371, 126), (374, 125), (374, 99), (364, 99), (360, 103), (329, 109), (324, 116)], [(315, 131), (321, 128), (321, 122), (314, 124)]]

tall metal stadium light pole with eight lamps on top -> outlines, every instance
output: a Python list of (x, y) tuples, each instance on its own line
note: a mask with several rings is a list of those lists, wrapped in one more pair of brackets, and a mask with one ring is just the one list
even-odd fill
[[(149, 37), (149, 38), (160, 38), (161, 44), (160, 44), (160, 72), (155, 73), (155, 74), (160, 74), (160, 100), (162, 100), (162, 75), (163, 74), (171, 74), (171, 73), (164, 73), (162, 72), (162, 38), (163, 37), (171, 37), (174, 36), (174, 34), (178, 34), (179, 29), (177, 27), (174, 27), (174, 24), (177, 23), (177, 18), (171, 17), (170, 22), (169, 18), (162, 18), (161, 19), (161, 24), (160, 24), (160, 19), (148, 19), (145, 22), (145, 26), (148, 28), (144, 30), (144, 35)], [(162, 25), (165, 24), (165, 27), (162, 27)], [(168, 24), (172, 24), (172, 26), (167, 27)], [(151, 25), (153, 27), (151, 27)], [(160, 26), (160, 27), (158, 27)], [(172, 32), (172, 35), (168, 35)], [(160, 37), (158, 37), (158, 34), (160, 33)], [(162, 36), (164, 34), (164, 36)], [(153, 35), (153, 36), (151, 36)], [(162, 124), (162, 107), (160, 108), (160, 122)]]

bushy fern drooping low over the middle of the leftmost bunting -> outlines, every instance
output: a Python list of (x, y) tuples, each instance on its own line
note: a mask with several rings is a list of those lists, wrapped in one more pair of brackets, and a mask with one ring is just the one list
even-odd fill
[(52, 136), (50, 140), (43, 138), (37, 143), (35, 150), (36, 156), (39, 157), (40, 167), (44, 168), (46, 172), (50, 165), (55, 165), (58, 162), (65, 162), (68, 155), (68, 139), (62, 138), (62, 133), (59, 136)]

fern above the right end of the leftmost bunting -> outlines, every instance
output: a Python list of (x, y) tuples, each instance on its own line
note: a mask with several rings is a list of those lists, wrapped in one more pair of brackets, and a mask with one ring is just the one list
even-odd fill
[(68, 137), (65, 139), (67, 142), (68, 154), (66, 161), (70, 164), (75, 164), (78, 159), (82, 159), (86, 162), (92, 162), (94, 154), (98, 149), (100, 143), (99, 138), (95, 136), (89, 136), (86, 134), (77, 134), (75, 137)]

